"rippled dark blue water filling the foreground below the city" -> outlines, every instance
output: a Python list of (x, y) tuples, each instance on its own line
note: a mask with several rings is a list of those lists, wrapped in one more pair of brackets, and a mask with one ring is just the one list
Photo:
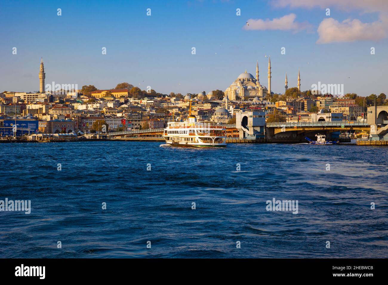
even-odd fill
[[(0, 257), (388, 257), (387, 161), (356, 145), (0, 144), (0, 200), (31, 200), (0, 211)], [(274, 198), (298, 214), (267, 211)]]

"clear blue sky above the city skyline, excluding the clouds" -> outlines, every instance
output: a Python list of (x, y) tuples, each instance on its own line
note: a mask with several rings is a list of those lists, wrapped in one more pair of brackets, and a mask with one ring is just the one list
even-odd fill
[[(286, 72), (288, 86), (296, 86), (300, 69), (302, 90), (321, 81), (344, 84), (345, 93), (388, 94), (386, 22), (381, 23), (388, 9), (379, 0), (371, 0), (379, 2), (374, 9), (354, 1), (359, 6), (338, 6), (333, 0), (2, 1), (0, 91), (38, 90), (41, 56), (46, 84), (107, 89), (128, 82), (167, 94), (209, 92), (225, 90), (245, 69), (255, 75), (258, 60), (260, 83), (267, 86), (265, 55), (270, 55), (273, 92), (284, 92)], [(331, 16), (325, 14), (325, 3), (314, 5), (322, 2)], [(57, 16), (58, 8), (62, 16)], [(237, 8), (241, 16), (236, 16)], [(272, 19), (289, 14), (296, 15), (296, 28), (286, 30), (282, 21), (280, 28), (273, 25)], [(326, 18), (377, 26), (355, 31), (370, 31), (366, 39), (351, 35), (346, 42), (316, 43), (317, 29)], [(249, 19), (270, 22), (247, 30)], [(371, 47), (376, 54), (371, 55)]]

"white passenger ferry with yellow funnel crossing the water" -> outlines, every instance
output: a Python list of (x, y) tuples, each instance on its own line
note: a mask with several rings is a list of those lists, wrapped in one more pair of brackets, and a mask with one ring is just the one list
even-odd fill
[(179, 147), (226, 147), (226, 129), (215, 122), (197, 122), (191, 115), (187, 122), (169, 122), (163, 137), (169, 145)]

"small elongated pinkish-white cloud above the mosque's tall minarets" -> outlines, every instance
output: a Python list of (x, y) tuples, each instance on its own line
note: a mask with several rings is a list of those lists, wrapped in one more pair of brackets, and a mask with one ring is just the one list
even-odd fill
[(296, 15), (289, 14), (280, 18), (270, 19), (249, 19), (248, 25), (244, 26), (246, 30), (281, 30), (298, 32), (303, 29), (309, 29), (311, 25), (308, 22), (295, 21)]

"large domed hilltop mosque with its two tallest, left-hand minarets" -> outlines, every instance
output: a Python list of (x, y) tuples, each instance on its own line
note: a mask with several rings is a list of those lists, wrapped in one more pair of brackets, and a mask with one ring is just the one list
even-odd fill
[(271, 59), (268, 58), (268, 88), (261, 85), (259, 81), (259, 64), (256, 62), (256, 78), (246, 71), (241, 73), (237, 79), (225, 90), (225, 97), (229, 100), (236, 100), (237, 96), (241, 100), (260, 100), (271, 93)]

